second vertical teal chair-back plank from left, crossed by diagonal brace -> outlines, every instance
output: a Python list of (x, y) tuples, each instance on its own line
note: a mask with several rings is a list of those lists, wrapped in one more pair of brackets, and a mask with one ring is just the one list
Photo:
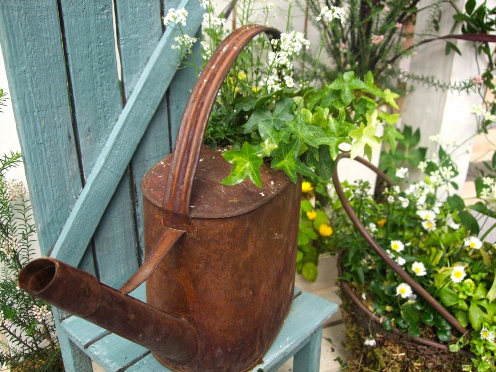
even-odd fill
[[(62, 0), (61, 9), (73, 117), (86, 178), (123, 108), (112, 0)], [(99, 278), (110, 286), (122, 285), (138, 267), (129, 187), (126, 171), (93, 236)], [(81, 262), (81, 265), (88, 266), (88, 263)]]

